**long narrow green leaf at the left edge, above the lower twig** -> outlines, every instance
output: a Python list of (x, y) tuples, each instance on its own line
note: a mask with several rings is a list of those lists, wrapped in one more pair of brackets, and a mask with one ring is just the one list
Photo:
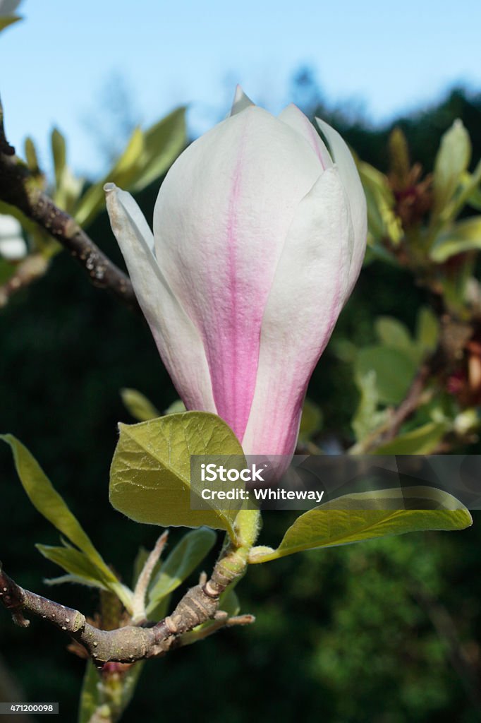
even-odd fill
[(62, 497), (53, 489), (50, 480), (27, 448), (13, 435), (0, 435), (0, 440), (6, 442), (12, 449), (20, 482), (35, 509), (87, 555), (105, 582), (113, 586), (120, 585), (112, 570), (93, 546), (90, 537), (84, 532), (77, 518), (72, 515)]

